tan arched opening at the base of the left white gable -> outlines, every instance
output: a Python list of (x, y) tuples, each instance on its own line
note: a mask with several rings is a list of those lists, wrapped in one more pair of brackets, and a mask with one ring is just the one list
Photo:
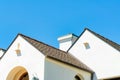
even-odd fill
[(25, 68), (17, 66), (9, 72), (6, 80), (29, 80), (29, 75)]

